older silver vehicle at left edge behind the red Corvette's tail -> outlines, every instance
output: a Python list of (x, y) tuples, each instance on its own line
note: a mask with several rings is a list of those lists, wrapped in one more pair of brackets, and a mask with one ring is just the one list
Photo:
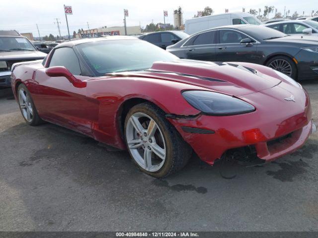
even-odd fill
[(10, 87), (11, 66), (15, 62), (41, 60), (39, 52), (26, 37), (16, 31), (0, 31), (0, 87)]

